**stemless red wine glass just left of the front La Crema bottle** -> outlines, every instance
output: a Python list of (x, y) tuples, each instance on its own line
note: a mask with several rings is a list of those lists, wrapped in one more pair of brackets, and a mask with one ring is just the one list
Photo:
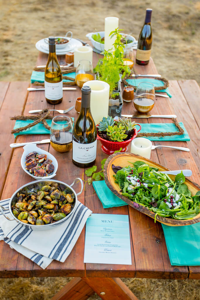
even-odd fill
[(58, 152), (67, 152), (72, 148), (73, 126), (67, 116), (56, 116), (52, 119), (50, 143)]

